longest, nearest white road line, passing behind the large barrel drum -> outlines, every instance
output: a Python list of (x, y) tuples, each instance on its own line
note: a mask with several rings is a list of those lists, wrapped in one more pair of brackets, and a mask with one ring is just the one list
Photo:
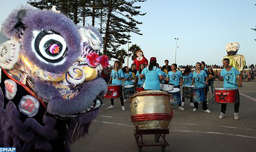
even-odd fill
[[(126, 124), (119, 124), (119, 123), (111, 123), (111, 122), (101, 122), (101, 121), (93, 121), (93, 122), (100, 122), (104, 124), (113, 124), (113, 125), (119, 125), (119, 126), (128, 126), (128, 127), (134, 127), (133, 125), (126, 125)], [(254, 138), (254, 136), (245, 136), (245, 135), (238, 135), (238, 134), (228, 134), (228, 133), (221, 133), (221, 132), (211, 132), (211, 131), (190, 131), (190, 130), (171, 130), (170, 131), (177, 131), (177, 132), (190, 132), (190, 133), (205, 133), (205, 134), (217, 134), (217, 135), (229, 135), (229, 136), (237, 136), (237, 137), (245, 137), (245, 138)]]

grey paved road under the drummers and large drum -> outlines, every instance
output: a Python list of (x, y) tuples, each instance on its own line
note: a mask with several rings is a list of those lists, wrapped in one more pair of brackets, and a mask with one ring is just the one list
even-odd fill
[[(170, 123), (170, 134), (166, 135), (169, 146), (166, 151), (256, 151), (256, 83), (245, 82), (239, 89), (239, 120), (234, 120), (233, 104), (228, 104), (226, 117), (219, 119), (220, 104), (208, 101), (211, 113), (206, 113), (199, 104), (198, 111), (192, 111), (189, 101), (185, 110), (174, 107), (174, 117)], [(215, 88), (222, 88), (222, 83), (215, 81)], [(208, 99), (211, 99), (212, 95)], [(120, 101), (115, 102), (115, 109), (108, 109), (109, 99), (97, 119), (90, 126), (89, 135), (74, 143), (72, 151), (138, 151), (134, 138), (134, 126), (130, 118), (129, 103), (125, 102), (125, 111), (121, 110)], [(155, 143), (153, 135), (143, 136), (145, 143)], [(162, 141), (162, 140), (160, 140)], [(159, 146), (143, 147), (142, 151), (161, 151)]]

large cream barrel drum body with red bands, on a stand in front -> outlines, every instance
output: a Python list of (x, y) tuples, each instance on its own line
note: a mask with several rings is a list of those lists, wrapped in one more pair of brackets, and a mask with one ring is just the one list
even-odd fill
[(131, 98), (131, 119), (135, 128), (168, 128), (173, 117), (168, 93), (156, 90), (141, 91)]

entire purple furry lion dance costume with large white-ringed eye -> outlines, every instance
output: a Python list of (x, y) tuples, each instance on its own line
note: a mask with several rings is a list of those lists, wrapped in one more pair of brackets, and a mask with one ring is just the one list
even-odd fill
[[(56, 10), (23, 6), (3, 24), (0, 147), (69, 151), (88, 132), (107, 92), (102, 37)], [(0, 41), (0, 42), (1, 42)]]

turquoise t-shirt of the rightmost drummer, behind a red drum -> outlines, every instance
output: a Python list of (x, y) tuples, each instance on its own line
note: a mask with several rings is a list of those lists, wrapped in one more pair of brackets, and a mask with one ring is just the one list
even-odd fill
[(238, 88), (237, 85), (234, 85), (234, 84), (237, 84), (236, 83), (236, 75), (239, 75), (240, 72), (232, 67), (230, 71), (227, 71), (226, 68), (222, 69), (220, 71), (220, 76), (223, 77), (224, 79), (224, 82), (223, 82), (223, 88)]

